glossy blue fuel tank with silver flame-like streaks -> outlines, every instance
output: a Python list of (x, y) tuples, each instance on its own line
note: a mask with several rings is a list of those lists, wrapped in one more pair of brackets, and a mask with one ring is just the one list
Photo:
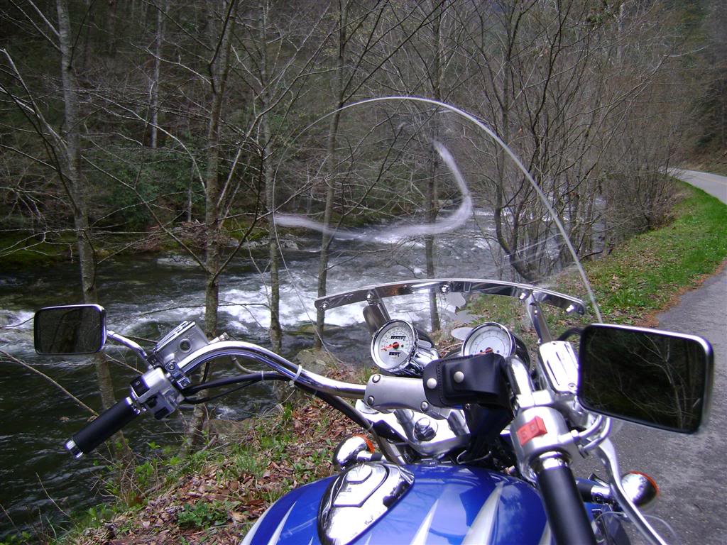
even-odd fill
[[(373, 466), (372, 466), (373, 467)], [(377, 469), (377, 468), (374, 468)], [(350, 501), (341, 476), (297, 488), (260, 517), (243, 545), (550, 544), (550, 529), (537, 491), (528, 483), (466, 466), (407, 466), (413, 482), (397, 498), (385, 496), (385, 512)], [(361, 473), (361, 472), (359, 472)], [(366, 475), (371, 472), (366, 469)], [(358, 478), (358, 477), (357, 477)], [(372, 477), (369, 477), (372, 478)], [(361, 478), (350, 477), (356, 488)], [(379, 485), (376, 485), (379, 486)], [(348, 487), (348, 489), (347, 489)], [(379, 486), (379, 488), (382, 488)], [(332, 490), (338, 493), (332, 501)], [(388, 499), (387, 499), (388, 498)], [(343, 531), (319, 530), (321, 500), (341, 504)], [(364, 503), (364, 502), (361, 502)], [(321, 522), (323, 521), (323, 522)]]

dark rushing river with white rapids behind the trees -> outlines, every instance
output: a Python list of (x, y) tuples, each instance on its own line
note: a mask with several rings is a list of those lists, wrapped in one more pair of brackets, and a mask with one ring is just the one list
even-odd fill
[[(477, 226), (481, 233), (481, 225)], [(488, 229), (489, 230), (489, 229)], [(292, 356), (310, 346), (304, 334), (311, 315), (310, 303), (316, 289), (318, 267), (316, 238), (298, 239), (286, 251), (289, 273), (282, 275), (281, 322), (284, 355)], [(340, 244), (350, 245), (350, 241)], [(381, 249), (377, 243), (358, 243), (361, 259), (356, 267), (342, 262), (329, 277), (329, 292), (366, 284), (421, 277), (424, 270), (423, 245), (412, 243), (399, 247), (395, 259), (401, 266), (381, 266)], [(269, 276), (265, 249), (240, 252), (220, 281), (220, 330), (236, 339), (268, 344), (267, 288)], [(476, 276), (496, 275), (492, 263), (483, 263), (483, 247), (474, 239), (460, 239), (449, 249), (438, 251), (438, 274)], [(396, 263), (395, 263), (396, 265)], [(262, 271), (262, 272), (261, 272)], [(0, 350), (24, 360), (49, 375), (84, 403), (98, 409), (100, 399), (89, 358), (39, 357), (33, 351), (32, 316), (39, 307), (80, 301), (79, 273), (76, 264), (60, 264), (33, 270), (0, 272)], [(290, 281), (294, 278), (294, 282)], [(114, 259), (100, 265), (97, 286), (101, 304), (107, 311), (109, 328), (121, 334), (158, 339), (182, 320), (202, 323), (204, 275), (190, 259), (180, 256), (134, 256)], [(360, 316), (343, 310), (327, 322), (339, 326), (341, 342), (350, 344), (345, 326), (360, 322)], [(12, 327), (15, 326), (15, 327)], [(358, 332), (357, 336), (365, 336)], [(364, 339), (365, 341), (365, 339)], [(147, 345), (148, 346), (148, 345)], [(107, 347), (111, 355), (133, 363), (128, 351)], [(359, 350), (366, 359), (368, 347)], [(142, 369), (142, 364), (137, 362)], [(117, 395), (126, 395), (133, 369), (114, 366)], [(215, 415), (225, 419), (244, 419), (275, 398), (267, 387), (248, 389), (220, 400)], [(188, 413), (182, 411), (182, 413)], [(0, 367), (0, 539), (17, 530), (49, 528), (68, 520), (68, 513), (86, 509), (103, 500), (100, 478), (106, 473), (106, 461), (100, 454), (71, 458), (63, 445), (88, 419), (89, 414), (57, 387), (15, 363)], [(126, 428), (134, 452), (148, 453), (148, 443), (174, 444), (182, 427), (180, 417), (158, 422), (141, 418)], [(102, 450), (102, 449), (100, 449)]]

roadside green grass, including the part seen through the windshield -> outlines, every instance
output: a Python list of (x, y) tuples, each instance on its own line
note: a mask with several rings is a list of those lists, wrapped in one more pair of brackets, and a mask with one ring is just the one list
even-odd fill
[[(635, 235), (608, 256), (585, 263), (604, 322), (647, 322), (651, 314), (667, 307), (704, 275), (715, 273), (727, 259), (727, 205), (691, 185), (675, 183), (680, 201), (669, 224)], [(574, 296), (586, 295), (573, 269), (548, 287)], [(534, 342), (519, 302), (502, 296), (481, 297), (471, 310), (474, 315), (507, 324), (529, 346)], [(595, 321), (593, 315), (578, 318), (552, 308), (547, 309), (547, 318), (553, 336)]]

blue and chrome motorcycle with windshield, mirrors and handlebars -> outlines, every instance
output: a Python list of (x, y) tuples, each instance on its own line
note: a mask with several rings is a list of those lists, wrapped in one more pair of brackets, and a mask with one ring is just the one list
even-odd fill
[[(388, 97), (314, 121), (276, 169), (281, 314), (312, 323), (333, 360), (373, 363), (366, 384), (226, 335), (209, 341), (193, 321), (147, 351), (109, 330), (103, 307), (47, 307), (34, 322), (40, 354), (111, 341), (148, 366), (66, 448), (83, 456), (140, 414), (164, 419), (203, 390), (292, 382), (373, 442), (343, 440), (336, 473), (279, 498), (244, 545), (625, 544), (626, 522), (664, 544), (641, 512), (656, 484), (621, 474), (614, 424), (696, 432), (712, 349), (697, 336), (601, 323), (571, 239), (581, 252), (598, 246), (602, 203), (571, 182), (538, 185), (489, 126), (441, 102)], [(310, 251), (319, 267), (302, 265)], [(352, 288), (361, 271), (376, 281)], [(260, 370), (193, 382), (225, 358)], [(574, 477), (572, 462), (590, 456), (603, 479)]]

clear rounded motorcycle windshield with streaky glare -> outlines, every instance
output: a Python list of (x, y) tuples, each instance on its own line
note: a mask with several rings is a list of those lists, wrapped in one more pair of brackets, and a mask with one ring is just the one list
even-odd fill
[[(286, 312), (309, 323), (337, 358), (361, 363), (371, 362), (371, 336), (388, 320), (411, 323), (438, 355), (462, 350), (482, 323), (499, 323), (531, 346), (594, 321), (543, 291), (582, 299), (593, 312), (565, 233), (592, 251), (598, 229), (583, 240), (579, 225), (586, 214), (597, 217), (598, 203), (579, 201), (566, 182), (536, 185), (483, 121), (447, 105), (387, 98), (337, 110), (292, 140), (276, 170), (280, 284), (294, 301)], [(499, 283), (421, 282), (433, 278)], [(416, 289), (406, 286), (415, 280)], [(405, 285), (352, 294), (382, 283)], [(529, 317), (533, 295), (550, 325), (545, 333)]]

